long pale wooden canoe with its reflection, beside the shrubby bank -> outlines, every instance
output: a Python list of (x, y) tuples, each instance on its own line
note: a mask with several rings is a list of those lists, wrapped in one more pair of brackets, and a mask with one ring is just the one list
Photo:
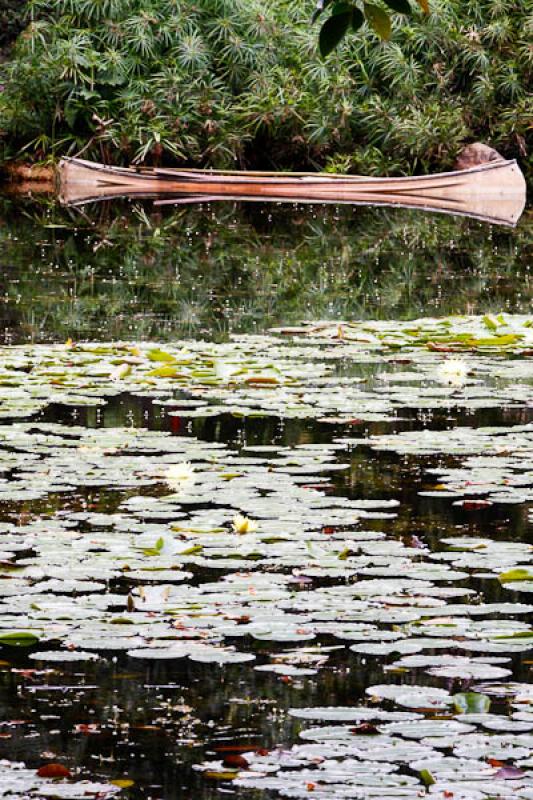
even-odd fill
[(353, 203), (401, 206), (515, 225), (524, 210), (526, 183), (516, 161), (493, 161), (460, 172), (407, 178), (328, 173), (272, 173), (109, 167), (65, 158), (60, 199), (82, 205), (115, 197), (155, 198), (159, 204), (212, 200)]

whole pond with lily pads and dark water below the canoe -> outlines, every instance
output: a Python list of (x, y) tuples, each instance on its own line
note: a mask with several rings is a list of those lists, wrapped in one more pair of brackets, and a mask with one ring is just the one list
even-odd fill
[(0, 241), (0, 797), (533, 798), (531, 218)]

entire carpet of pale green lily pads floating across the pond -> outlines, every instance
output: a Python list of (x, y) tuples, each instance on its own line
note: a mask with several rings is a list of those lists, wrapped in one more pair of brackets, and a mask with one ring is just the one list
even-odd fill
[[(533, 547), (458, 532), (430, 550), (395, 535), (396, 499), (337, 490), (350, 485), (353, 449), (364, 446), (455, 459), (428, 467), (435, 486), (422, 494), (529, 504), (531, 424), (238, 448), (38, 416), (51, 403), (103, 405), (123, 393), (186, 417), (336, 422), (531, 404), (525, 318), (292, 333), (295, 342), (271, 335), (165, 350), (2, 350), (2, 654), (26, 646), (33, 663), (59, 666), (120, 654), (189, 659), (295, 682), (320, 681), (338, 659), (351, 670), (373, 660), (383, 682), (365, 702), (290, 712), (301, 742), (245, 753), (238, 768), (207, 760), (198, 769), (284, 797), (531, 800), (533, 690), (512, 678), (513, 658), (533, 644), (533, 605), (521, 601), (533, 590)], [(471, 352), (458, 361), (443, 347)], [(104, 493), (101, 511), (93, 501)], [(493, 581), (501, 601), (485, 601), (473, 588), (481, 581)], [(78, 796), (68, 793), (74, 784), (48, 795), (21, 764), (6, 762), (4, 774), (0, 796), (13, 786), (28, 797)], [(94, 786), (85, 793), (117, 791)]]

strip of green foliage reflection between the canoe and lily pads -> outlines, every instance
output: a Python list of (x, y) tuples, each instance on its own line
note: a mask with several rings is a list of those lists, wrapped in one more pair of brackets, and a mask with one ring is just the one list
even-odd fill
[[(21, 213), (22, 212), (22, 213)], [(17, 338), (222, 336), (302, 318), (528, 311), (533, 228), (383, 209), (0, 206)]]

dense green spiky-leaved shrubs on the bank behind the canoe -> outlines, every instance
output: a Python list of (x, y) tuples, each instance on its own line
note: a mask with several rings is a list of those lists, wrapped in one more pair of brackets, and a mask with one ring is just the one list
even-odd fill
[[(372, 174), (481, 139), (527, 164), (529, 0), (432, 0), (322, 61), (312, 0), (31, 0), (0, 82), (10, 152)], [(528, 141), (529, 137), (529, 141)], [(531, 162), (529, 162), (531, 165)]]

